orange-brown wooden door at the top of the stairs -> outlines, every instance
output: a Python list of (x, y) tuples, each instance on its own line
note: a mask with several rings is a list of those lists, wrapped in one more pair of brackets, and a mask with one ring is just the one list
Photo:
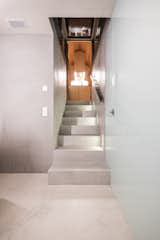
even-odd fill
[[(71, 101), (90, 101), (92, 82), (90, 79), (92, 67), (91, 41), (68, 41), (68, 81), (67, 99)], [(85, 85), (72, 85), (76, 75), (85, 74)], [(82, 74), (81, 74), (82, 75)], [(88, 86), (86, 86), (88, 84)]]

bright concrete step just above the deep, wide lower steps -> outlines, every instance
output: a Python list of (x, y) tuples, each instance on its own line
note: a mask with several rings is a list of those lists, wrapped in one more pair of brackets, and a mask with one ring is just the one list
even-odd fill
[(58, 136), (58, 146), (100, 146), (100, 136)]

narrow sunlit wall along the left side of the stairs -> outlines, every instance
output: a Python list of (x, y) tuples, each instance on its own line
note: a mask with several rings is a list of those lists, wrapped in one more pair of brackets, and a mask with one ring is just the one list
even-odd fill
[(66, 63), (58, 38), (54, 34), (54, 147), (57, 146), (58, 132), (66, 104), (66, 83)]

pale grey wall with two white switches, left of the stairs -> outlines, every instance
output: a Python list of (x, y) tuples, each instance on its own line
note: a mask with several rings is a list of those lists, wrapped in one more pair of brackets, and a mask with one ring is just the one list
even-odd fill
[(53, 38), (0, 35), (0, 171), (47, 171), (52, 152)]

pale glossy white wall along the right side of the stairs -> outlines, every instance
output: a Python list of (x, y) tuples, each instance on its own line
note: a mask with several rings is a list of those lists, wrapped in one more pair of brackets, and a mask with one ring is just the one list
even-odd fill
[(136, 240), (160, 239), (159, 12), (157, 0), (117, 0), (106, 33), (107, 161)]

